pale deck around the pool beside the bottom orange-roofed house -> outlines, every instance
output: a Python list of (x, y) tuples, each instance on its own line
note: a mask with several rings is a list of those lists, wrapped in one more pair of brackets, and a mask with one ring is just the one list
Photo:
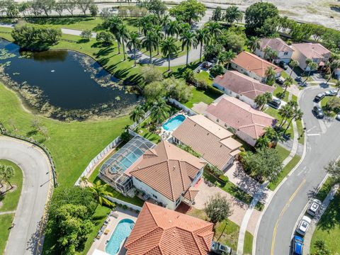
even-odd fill
[[(118, 222), (120, 222), (120, 220), (123, 219), (130, 219), (136, 222), (138, 217), (136, 212), (130, 210), (123, 210), (122, 208), (119, 207), (117, 207), (115, 213), (118, 215), (118, 217), (110, 216), (109, 217), (110, 221), (108, 222), (108, 226), (106, 227), (106, 229), (108, 229), (110, 232), (108, 232), (108, 234), (102, 234), (100, 239), (94, 239), (94, 243), (91, 245), (91, 248), (89, 249), (87, 255), (94, 254), (94, 251), (96, 249), (105, 252), (106, 242), (111, 238), (111, 235), (115, 231), (115, 227), (117, 226)], [(119, 254), (124, 253), (119, 252)]]

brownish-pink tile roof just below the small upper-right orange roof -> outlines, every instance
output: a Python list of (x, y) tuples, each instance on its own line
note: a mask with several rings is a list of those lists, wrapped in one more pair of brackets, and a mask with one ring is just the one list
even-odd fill
[(234, 91), (234, 93), (246, 96), (250, 99), (255, 99), (256, 96), (264, 94), (266, 92), (274, 92), (272, 86), (262, 84), (260, 81), (256, 81), (249, 76), (241, 74), (237, 71), (227, 71), (225, 74), (217, 76), (214, 79), (214, 83), (218, 84), (229, 91)]

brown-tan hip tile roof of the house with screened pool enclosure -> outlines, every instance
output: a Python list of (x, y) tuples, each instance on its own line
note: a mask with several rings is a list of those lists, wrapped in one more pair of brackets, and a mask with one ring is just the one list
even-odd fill
[(204, 165), (202, 159), (162, 141), (157, 147), (145, 152), (130, 175), (171, 201), (176, 201), (191, 187), (193, 179)]

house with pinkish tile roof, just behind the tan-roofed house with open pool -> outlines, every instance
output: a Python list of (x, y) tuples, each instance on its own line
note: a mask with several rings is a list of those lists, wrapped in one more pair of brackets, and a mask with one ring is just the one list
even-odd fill
[(276, 125), (275, 118), (227, 95), (220, 96), (211, 103), (205, 115), (218, 125), (232, 130), (251, 146), (256, 144), (266, 127)]

